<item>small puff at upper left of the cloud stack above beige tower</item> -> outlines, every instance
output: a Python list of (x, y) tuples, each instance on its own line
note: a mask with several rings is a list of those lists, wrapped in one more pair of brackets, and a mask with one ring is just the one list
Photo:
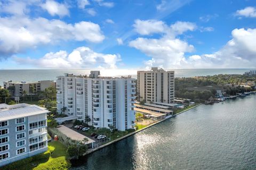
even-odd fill
[(141, 35), (150, 35), (151, 33), (163, 32), (166, 24), (157, 20), (135, 20), (133, 27)]

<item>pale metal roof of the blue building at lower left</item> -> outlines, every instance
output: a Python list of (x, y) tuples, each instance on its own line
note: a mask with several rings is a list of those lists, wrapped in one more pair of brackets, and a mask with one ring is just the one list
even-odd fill
[(25, 103), (16, 105), (0, 104), (0, 121), (7, 121), (14, 118), (33, 116), (43, 113), (49, 113), (49, 111), (37, 105), (29, 105)]

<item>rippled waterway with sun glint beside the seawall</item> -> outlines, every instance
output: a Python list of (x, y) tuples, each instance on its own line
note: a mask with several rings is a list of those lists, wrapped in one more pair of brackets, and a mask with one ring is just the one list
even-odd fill
[(256, 95), (201, 105), (79, 160), (78, 169), (256, 169)]

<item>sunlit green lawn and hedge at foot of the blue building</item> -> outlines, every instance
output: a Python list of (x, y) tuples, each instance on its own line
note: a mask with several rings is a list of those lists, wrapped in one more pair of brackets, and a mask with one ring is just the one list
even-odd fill
[(67, 148), (59, 141), (48, 143), (48, 150), (42, 154), (19, 160), (1, 170), (66, 170), (70, 167)]

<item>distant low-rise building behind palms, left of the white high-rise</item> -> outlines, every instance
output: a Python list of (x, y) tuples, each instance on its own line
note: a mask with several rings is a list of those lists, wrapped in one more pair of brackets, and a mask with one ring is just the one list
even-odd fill
[(26, 91), (27, 95), (31, 94), (31, 88), (34, 88), (34, 93), (38, 91), (44, 91), (46, 88), (55, 87), (55, 82), (50, 80), (42, 80), (38, 82), (12, 82), (4, 81), (4, 88), (9, 89), (13, 97), (22, 96), (22, 92)]

